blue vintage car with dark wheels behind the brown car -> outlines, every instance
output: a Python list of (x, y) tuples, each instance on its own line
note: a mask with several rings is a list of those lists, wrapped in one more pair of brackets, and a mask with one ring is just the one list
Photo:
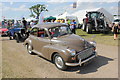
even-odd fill
[(13, 26), (9, 29), (8, 35), (10, 40), (15, 39), (17, 43), (24, 42), (29, 36), (29, 32), (20, 26)]

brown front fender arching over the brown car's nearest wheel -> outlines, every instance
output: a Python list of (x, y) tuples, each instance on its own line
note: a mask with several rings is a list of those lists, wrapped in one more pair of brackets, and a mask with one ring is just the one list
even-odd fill
[(54, 53), (59, 53), (64, 61), (68, 61), (70, 54), (66, 50), (67, 46), (62, 46), (59, 44), (46, 45), (42, 48), (42, 53), (44, 53), (45, 58), (51, 60)]

